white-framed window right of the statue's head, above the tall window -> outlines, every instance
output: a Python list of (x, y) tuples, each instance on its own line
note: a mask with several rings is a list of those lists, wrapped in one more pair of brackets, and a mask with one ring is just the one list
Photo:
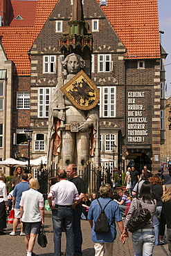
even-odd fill
[[(107, 66), (109, 65), (109, 70)], [(98, 55), (98, 73), (111, 72), (113, 69), (113, 62), (111, 61), (111, 54)]]

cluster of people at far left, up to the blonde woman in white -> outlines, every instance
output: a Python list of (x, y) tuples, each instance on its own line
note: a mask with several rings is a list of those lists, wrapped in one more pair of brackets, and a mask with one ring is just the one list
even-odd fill
[(15, 218), (10, 236), (15, 236), (20, 222), (21, 236), (25, 236), (27, 256), (33, 253), (36, 235), (41, 225), (44, 225), (44, 196), (37, 190), (39, 182), (31, 174), (24, 173), (21, 167), (16, 167), (12, 178), (12, 192), (7, 194), (6, 176), (0, 173), (0, 235), (6, 234), (8, 209), (14, 210)]

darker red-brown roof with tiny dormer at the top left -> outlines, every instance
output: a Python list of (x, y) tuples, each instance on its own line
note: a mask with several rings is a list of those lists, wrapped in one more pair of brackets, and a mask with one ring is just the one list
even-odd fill
[[(8, 14), (8, 26), (33, 26), (37, 1), (11, 0)], [(17, 17), (22, 19), (16, 19)]]

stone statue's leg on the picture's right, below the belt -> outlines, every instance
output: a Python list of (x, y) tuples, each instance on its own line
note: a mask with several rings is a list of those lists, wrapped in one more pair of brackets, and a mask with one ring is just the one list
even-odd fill
[(87, 164), (89, 159), (89, 131), (76, 134), (78, 165)]

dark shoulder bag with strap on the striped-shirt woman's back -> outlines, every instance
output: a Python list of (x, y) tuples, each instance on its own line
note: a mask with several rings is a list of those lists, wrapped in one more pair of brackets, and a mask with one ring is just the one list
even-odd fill
[(151, 214), (148, 209), (141, 207), (141, 203), (138, 199), (138, 186), (136, 190), (136, 202), (137, 210), (132, 214), (132, 218), (129, 220), (128, 230), (129, 232), (136, 232), (139, 228), (142, 228), (151, 219)]

